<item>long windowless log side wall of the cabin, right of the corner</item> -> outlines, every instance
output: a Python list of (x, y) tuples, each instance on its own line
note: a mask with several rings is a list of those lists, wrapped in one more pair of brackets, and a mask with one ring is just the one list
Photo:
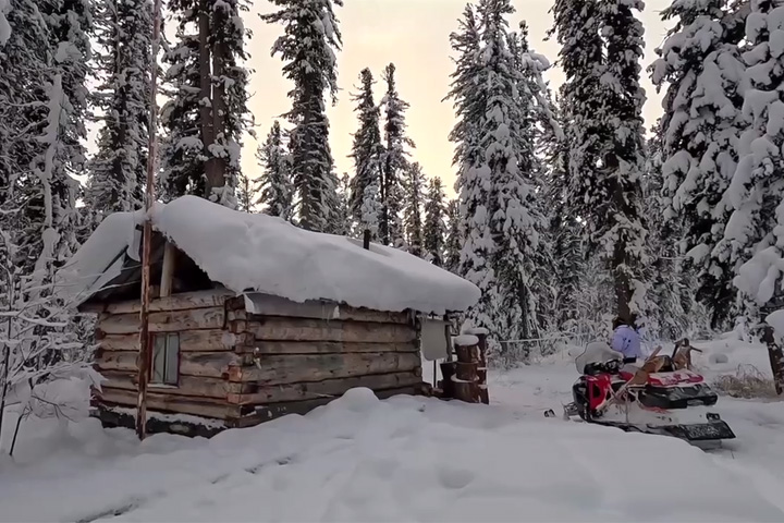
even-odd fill
[(253, 362), (232, 366), (229, 380), (254, 389), (229, 401), (252, 406), (257, 417), (304, 413), (354, 387), (380, 397), (421, 387), (417, 329), (407, 313), (272, 296), (254, 305), (254, 314), (240, 300), (228, 306), (235, 352)]

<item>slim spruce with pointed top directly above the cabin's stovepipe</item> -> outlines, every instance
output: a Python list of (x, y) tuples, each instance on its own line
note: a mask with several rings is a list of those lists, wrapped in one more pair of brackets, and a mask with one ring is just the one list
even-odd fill
[(373, 101), (373, 78), (369, 69), (362, 70), (359, 82), (359, 90), (352, 97), (356, 102), (354, 111), (359, 120), (359, 129), (354, 133), (354, 145), (350, 155), (354, 160), (351, 209), (352, 216), (357, 220), (362, 217), (365, 187), (371, 183), (377, 185), (382, 183), (381, 168), (384, 154), (379, 127), (380, 110)]

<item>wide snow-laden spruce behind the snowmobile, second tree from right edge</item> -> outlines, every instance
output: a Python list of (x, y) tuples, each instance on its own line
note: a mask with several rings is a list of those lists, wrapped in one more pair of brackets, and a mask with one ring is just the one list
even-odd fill
[(712, 325), (730, 319), (733, 265), (720, 245), (730, 217), (722, 197), (737, 165), (736, 146), (746, 82), (739, 44), (748, 4), (728, 0), (673, 2), (662, 11), (675, 27), (657, 50), (653, 83), (666, 86), (662, 133), (662, 188), (667, 221), (698, 279), (697, 297)]

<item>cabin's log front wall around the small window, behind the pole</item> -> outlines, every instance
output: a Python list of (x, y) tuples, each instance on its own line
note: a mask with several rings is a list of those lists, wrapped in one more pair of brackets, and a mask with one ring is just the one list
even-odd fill
[[(150, 303), (150, 332), (180, 335), (179, 386), (149, 386), (150, 410), (225, 421), (241, 415), (238, 405), (228, 401), (229, 394), (247, 390), (226, 379), (229, 367), (243, 357), (234, 352), (237, 337), (228, 330), (225, 304), (230, 297), (233, 293), (215, 290)], [(95, 366), (106, 378), (96, 391), (98, 403), (135, 408), (139, 302), (112, 303), (98, 312)]]

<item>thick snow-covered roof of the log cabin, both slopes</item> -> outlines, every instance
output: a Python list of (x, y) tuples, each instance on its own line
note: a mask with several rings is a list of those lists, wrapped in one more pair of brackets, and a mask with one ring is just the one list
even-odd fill
[[(400, 250), (305, 231), (267, 215), (231, 210), (196, 196), (158, 204), (152, 226), (212, 281), (295, 302), (330, 300), (378, 311), (465, 311), (479, 289)], [(120, 273), (123, 254), (138, 258), (139, 212), (117, 212), (61, 270), (61, 288), (81, 303)], [(118, 265), (120, 264), (120, 265)]]

